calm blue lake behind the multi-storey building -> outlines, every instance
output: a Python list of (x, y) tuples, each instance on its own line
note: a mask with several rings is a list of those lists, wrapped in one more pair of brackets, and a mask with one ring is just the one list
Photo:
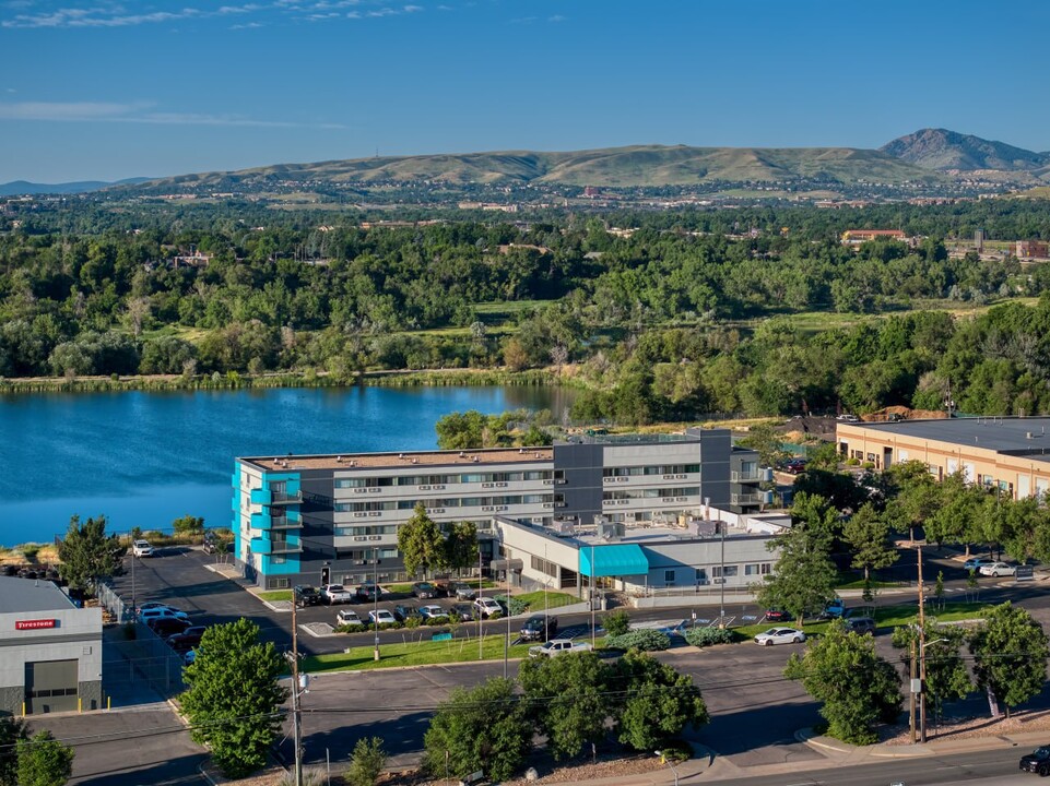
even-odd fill
[(69, 519), (110, 532), (231, 520), (235, 456), (437, 446), (451, 412), (548, 408), (538, 388), (354, 388), (0, 396), (0, 545), (50, 540)]

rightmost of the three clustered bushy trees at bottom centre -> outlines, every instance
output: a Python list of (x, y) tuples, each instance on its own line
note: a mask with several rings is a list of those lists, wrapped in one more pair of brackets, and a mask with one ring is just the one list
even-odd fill
[(693, 678), (651, 655), (629, 651), (615, 670), (614, 680), (625, 691), (616, 713), (617, 737), (624, 745), (651, 751), (686, 726), (696, 728), (710, 719)]

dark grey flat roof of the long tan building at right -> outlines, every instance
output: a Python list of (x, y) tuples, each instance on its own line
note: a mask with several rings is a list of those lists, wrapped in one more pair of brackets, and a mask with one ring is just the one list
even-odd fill
[[(841, 424), (843, 429), (885, 431), (1014, 454), (1050, 453), (1050, 417), (954, 417), (940, 420)], [(1030, 436), (1029, 436), (1030, 434)]]

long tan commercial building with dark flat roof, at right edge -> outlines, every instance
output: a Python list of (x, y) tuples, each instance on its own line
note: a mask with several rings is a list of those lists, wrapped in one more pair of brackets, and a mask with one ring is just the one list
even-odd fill
[(839, 453), (876, 469), (920, 461), (939, 480), (961, 472), (969, 483), (1014, 499), (1050, 489), (1050, 418), (979, 417), (839, 424)]

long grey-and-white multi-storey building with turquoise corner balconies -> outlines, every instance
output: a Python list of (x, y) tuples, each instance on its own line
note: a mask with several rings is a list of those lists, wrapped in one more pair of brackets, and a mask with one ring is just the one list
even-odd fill
[[(398, 527), (417, 503), (438, 523), (473, 522), (484, 558), (494, 520), (625, 526), (754, 513), (766, 477), (724, 429), (577, 437), (547, 448), (237, 458), (235, 555), (267, 588), (405, 577)], [(575, 569), (577, 569), (576, 565)]]

